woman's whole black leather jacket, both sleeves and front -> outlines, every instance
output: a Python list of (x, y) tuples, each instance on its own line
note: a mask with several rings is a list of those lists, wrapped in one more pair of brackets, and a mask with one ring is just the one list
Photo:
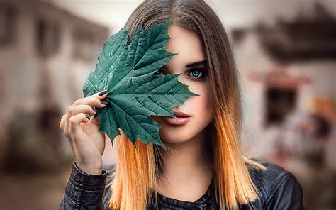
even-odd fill
[[(265, 165), (267, 170), (256, 170), (250, 165), (247, 167), (262, 196), (257, 201), (240, 205), (240, 209), (305, 209), (301, 184), (291, 172), (272, 162), (257, 162)], [(89, 175), (79, 170), (74, 161), (60, 209), (108, 209), (113, 180), (111, 173), (115, 169), (116, 165), (103, 165), (102, 175)], [(158, 204), (155, 206), (149, 201), (147, 209), (220, 209), (215, 203), (213, 183), (195, 202), (179, 201), (158, 194)]]

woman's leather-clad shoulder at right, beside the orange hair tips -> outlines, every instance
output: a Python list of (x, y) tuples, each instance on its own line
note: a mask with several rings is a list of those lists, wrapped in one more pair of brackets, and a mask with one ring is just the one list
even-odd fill
[(274, 162), (251, 158), (261, 163), (266, 170), (247, 165), (254, 184), (261, 192), (262, 206), (265, 209), (304, 209), (303, 190), (292, 172)]

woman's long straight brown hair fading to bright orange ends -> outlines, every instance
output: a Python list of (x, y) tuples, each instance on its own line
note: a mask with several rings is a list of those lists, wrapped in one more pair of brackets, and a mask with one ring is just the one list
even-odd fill
[[(129, 41), (139, 26), (172, 23), (196, 34), (202, 40), (208, 60), (208, 81), (214, 118), (206, 127), (211, 138), (209, 151), (215, 175), (215, 194), (221, 209), (238, 209), (258, 199), (260, 192), (252, 182), (247, 164), (265, 170), (259, 162), (245, 157), (240, 143), (242, 127), (240, 86), (228, 35), (206, 2), (189, 0), (143, 1), (128, 18), (125, 30)], [(136, 141), (135, 148), (121, 132), (114, 140), (116, 172), (111, 185), (111, 209), (145, 209), (152, 198), (159, 174), (157, 145)]]

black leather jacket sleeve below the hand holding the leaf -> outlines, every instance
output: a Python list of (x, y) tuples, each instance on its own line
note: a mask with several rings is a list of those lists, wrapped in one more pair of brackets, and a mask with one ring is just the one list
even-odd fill
[(103, 209), (107, 175), (104, 169), (102, 175), (89, 175), (74, 161), (60, 209)]

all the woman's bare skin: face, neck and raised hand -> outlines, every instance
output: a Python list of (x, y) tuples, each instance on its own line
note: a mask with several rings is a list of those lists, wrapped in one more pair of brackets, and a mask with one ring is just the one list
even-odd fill
[[(172, 126), (164, 121), (164, 116), (152, 116), (162, 126), (159, 135), (168, 150), (161, 150), (164, 157), (163, 173), (157, 182), (157, 192), (182, 201), (196, 201), (211, 184), (213, 171), (205, 155), (206, 136), (204, 128), (211, 123), (213, 111), (208, 98), (208, 79), (199, 70), (187, 68), (186, 64), (204, 60), (203, 43), (194, 33), (172, 23), (168, 30), (169, 40), (166, 50), (175, 55), (167, 63), (164, 74), (181, 74), (179, 82), (188, 85), (189, 90), (200, 96), (187, 99), (184, 104), (174, 106), (173, 111), (184, 111), (192, 115), (191, 121), (183, 126)], [(102, 155), (105, 149), (105, 134), (99, 132), (99, 118), (89, 120), (85, 114), (93, 116), (92, 109), (103, 108), (101, 100), (107, 94), (96, 93), (77, 99), (62, 116), (60, 129), (69, 142), (79, 170), (91, 175), (101, 175)]]

